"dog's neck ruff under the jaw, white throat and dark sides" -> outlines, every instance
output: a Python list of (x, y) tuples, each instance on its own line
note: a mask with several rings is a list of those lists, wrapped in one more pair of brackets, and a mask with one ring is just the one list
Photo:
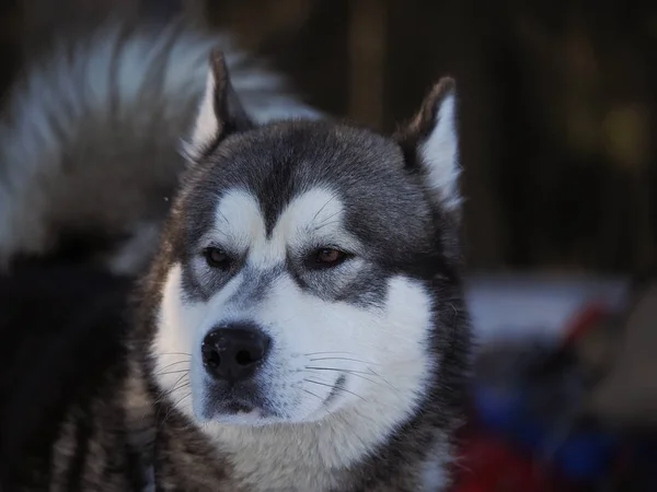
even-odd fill
[[(136, 382), (128, 386), (134, 393), (128, 391), (126, 401), (128, 414), (139, 423), (132, 429), (142, 433), (145, 461), (152, 462), (162, 490), (169, 490), (164, 482), (171, 490), (411, 492), (443, 490), (448, 483), (448, 433), (433, 421), (435, 412), (425, 411), (436, 405), (434, 384), (427, 385), (423, 401), (417, 395), (380, 391), (366, 396), (368, 401), (358, 409), (337, 411), (316, 422), (198, 426), (153, 386), (150, 398), (145, 398), (149, 386), (145, 374), (142, 367), (135, 367)], [(402, 401), (406, 402), (403, 409)], [(391, 412), (395, 407), (397, 411)], [(148, 422), (168, 437), (143, 431)], [(196, 456), (189, 456), (189, 449)], [(181, 479), (192, 483), (180, 483)]]

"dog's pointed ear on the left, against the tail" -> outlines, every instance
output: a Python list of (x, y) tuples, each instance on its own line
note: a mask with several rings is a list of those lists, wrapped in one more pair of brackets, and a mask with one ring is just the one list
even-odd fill
[(217, 48), (210, 54), (205, 94), (196, 115), (192, 139), (184, 150), (192, 160), (199, 160), (229, 134), (253, 127), (253, 121), (230, 82), (223, 52)]

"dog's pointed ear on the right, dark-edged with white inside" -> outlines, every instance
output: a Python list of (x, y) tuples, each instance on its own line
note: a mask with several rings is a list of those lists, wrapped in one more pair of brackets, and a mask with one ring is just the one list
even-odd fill
[(435, 203), (460, 215), (457, 91), (453, 79), (438, 81), (419, 112), (397, 134), (408, 166), (420, 172)]

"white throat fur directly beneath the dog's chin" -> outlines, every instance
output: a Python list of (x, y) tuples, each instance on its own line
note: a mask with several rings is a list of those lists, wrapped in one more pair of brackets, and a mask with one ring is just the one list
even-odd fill
[[(351, 470), (358, 470), (391, 436), (403, 440), (396, 427), (413, 417), (415, 400), (414, 395), (380, 391), (358, 409), (338, 410), (319, 422), (262, 427), (217, 424), (204, 432), (233, 457), (234, 472), (250, 490), (344, 490)], [(410, 403), (402, 410), (400, 401)], [(346, 481), (351, 483), (351, 477)]]

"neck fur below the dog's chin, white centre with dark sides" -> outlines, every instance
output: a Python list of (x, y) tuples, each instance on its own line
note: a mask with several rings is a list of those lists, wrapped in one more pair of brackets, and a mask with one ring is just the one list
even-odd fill
[[(422, 410), (379, 437), (381, 430), (374, 429), (365, 414), (287, 429), (212, 429), (194, 426), (182, 413), (166, 407), (159, 411), (164, 417), (158, 432), (170, 437), (154, 454), (166, 455), (176, 473), (171, 475), (168, 465), (159, 468), (155, 461), (158, 487), (163, 477), (172, 477), (175, 481), (189, 480), (193, 489), (200, 485), (219, 491), (429, 492), (443, 490), (449, 481), (445, 475), (451, 450), (447, 434), (435, 427), (430, 418), (423, 417)], [(175, 446), (166, 445), (174, 442)], [(177, 453), (178, 446), (201, 450), (191, 457)], [(218, 472), (216, 478), (209, 469)], [(171, 479), (165, 481), (173, 483)]]

